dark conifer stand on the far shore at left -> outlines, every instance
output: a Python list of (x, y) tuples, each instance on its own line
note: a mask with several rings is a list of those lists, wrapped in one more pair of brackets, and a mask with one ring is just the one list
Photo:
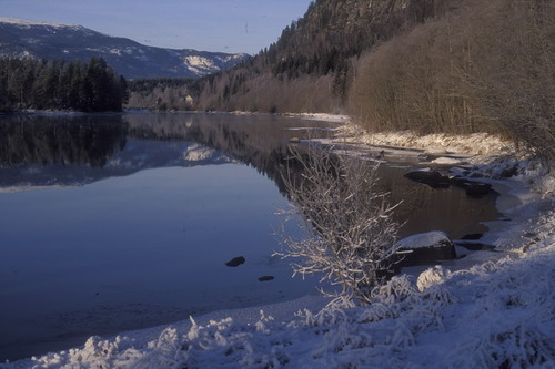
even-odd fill
[(128, 83), (102, 58), (87, 63), (0, 59), (0, 112), (24, 109), (82, 112), (121, 111)]

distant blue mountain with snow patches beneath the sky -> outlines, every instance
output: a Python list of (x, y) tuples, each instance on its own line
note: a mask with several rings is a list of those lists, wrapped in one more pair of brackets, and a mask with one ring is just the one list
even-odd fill
[(81, 25), (0, 18), (0, 57), (89, 61), (102, 57), (119, 74), (138, 78), (198, 78), (232, 68), (245, 53), (163, 49), (110, 37)]

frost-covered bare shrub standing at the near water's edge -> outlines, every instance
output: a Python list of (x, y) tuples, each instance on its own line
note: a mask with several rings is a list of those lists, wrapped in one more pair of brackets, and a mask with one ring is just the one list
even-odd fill
[(283, 180), (291, 208), (283, 212), (299, 222), (303, 237), (282, 229), (285, 249), (276, 255), (295, 258), (294, 274), (321, 274), (340, 286), (341, 298), (370, 303), (395, 263), (400, 227), (392, 217), (396, 205), (376, 189), (377, 164), (313, 145), (305, 154), (292, 148), (290, 163)]

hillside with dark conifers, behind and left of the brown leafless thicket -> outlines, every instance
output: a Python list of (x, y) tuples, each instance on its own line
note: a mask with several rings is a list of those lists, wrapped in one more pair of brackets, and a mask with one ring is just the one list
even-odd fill
[[(443, 13), (450, 2), (317, 0), (311, 3), (304, 17), (283, 30), (275, 43), (251, 60), (200, 81), (182, 81), (178, 89), (183, 96), (193, 98), (196, 110), (343, 110), (354, 75), (354, 61), (372, 45)], [(168, 109), (178, 109), (178, 103), (170, 102), (176, 93), (171, 92), (168, 83), (160, 82), (155, 99), (141, 89), (143, 84), (137, 89), (132, 85), (130, 106), (155, 106), (153, 102), (160, 98), (159, 105), (165, 102)], [(142, 105), (145, 101), (150, 105)]]

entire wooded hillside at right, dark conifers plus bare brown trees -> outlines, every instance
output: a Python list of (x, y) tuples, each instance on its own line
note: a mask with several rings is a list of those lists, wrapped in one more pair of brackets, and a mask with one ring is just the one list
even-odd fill
[(251, 60), (132, 86), (131, 107), (346, 112), (369, 131), (488, 132), (555, 157), (555, 2), (316, 0)]

